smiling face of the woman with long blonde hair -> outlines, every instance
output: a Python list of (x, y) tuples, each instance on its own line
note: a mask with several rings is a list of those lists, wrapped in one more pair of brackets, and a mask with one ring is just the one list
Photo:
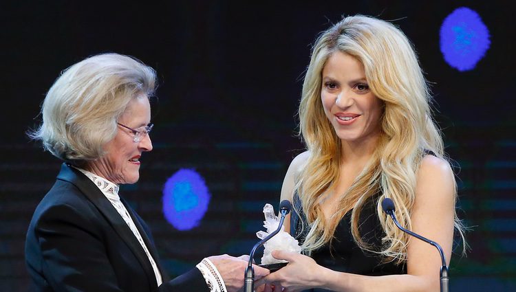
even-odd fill
[(322, 80), (323, 109), (336, 135), (346, 142), (377, 137), (383, 102), (369, 90), (362, 63), (335, 52), (325, 63)]

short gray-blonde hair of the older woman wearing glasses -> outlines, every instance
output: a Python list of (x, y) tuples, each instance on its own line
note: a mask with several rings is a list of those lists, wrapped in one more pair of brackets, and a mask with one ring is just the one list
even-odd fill
[(28, 135), (65, 161), (105, 155), (127, 104), (155, 91), (154, 69), (120, 54), (100, 54), (65, 69), (45, 97), (43, 123)]

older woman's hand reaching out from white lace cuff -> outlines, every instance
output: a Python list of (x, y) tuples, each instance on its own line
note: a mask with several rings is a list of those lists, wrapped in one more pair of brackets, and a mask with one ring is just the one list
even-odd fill
[[(244, 273), (246, 271), (249, 256), (235, 258), (224, 254), (222, 256), (210, 256), (210, 260), (226, 284), (228, 292), (240, 291), (244, 287)], [(255, 279), (261, 279), (270, 272), (268, 269), (252, 265), (255, 270)]]

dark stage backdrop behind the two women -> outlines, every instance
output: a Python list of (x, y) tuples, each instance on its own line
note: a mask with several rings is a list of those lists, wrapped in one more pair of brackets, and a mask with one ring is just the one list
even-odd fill
[[(140, 181), (121, 194), (149, 223), (166, 269), (177, 276), (205, 256), (247, 254), (257, 241), (262, 207), (277, 205), (288, 164), (303, 150), (295, 113), (310, 45), (342, 14), (357, 13), (399, 25), (433, 84), (436, 119), (460, 166), (460, 216), (473, 227), (468, 256), (451, 260), (452, 291), (515, 291), (510, 1), (246, 2), (0, 4), (0, 291), (27, 289), (25, 232), (60, 162), (25, 131), (41, 121), (39, 106), (62, 69), (93, 54), (118, 52), (158, 71), (154, 150), (142, 157)], [(439, 43), (444, 19), (462, 6), (480, 14), (491, 35), (485, 57), (469, 71), (445, 62)], [(211, 194), (197, 227), (183, 231), (162, 211), (164, 184), (180, 169), (195, 170)], [(187, 214), (202, 198), (192, 184), (178, 186), (175, 194), (187, 203), (172, 208)]]

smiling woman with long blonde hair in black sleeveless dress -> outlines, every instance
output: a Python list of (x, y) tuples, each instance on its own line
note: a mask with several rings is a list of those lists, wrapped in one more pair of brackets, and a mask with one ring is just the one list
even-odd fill
[(402, 225), (431, 238), (449, 261), (455, 179), (431, 117), (416, 54), (391, 23), (349, 16), (317, 39), (303, 83), (300, 129), (281, 199), (297, 212), (286, 229), (308, 256), (271, 273), (266, 291), (439, 291), (440, 256), (383, 214), (391, 198)]

